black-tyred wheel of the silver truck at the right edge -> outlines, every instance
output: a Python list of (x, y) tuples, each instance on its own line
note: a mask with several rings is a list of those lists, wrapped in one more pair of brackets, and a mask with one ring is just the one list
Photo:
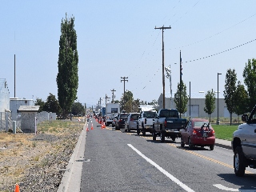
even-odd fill
[(246, 158), (243, 155), (242, 147), (237, 146), (234, 150), (234, 173), (242, 177), (246, 172)]

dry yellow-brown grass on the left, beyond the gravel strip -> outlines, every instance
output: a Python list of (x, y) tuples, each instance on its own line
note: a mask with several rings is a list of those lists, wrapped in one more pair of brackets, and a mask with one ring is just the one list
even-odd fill
[(21, 182), (33, 166), (47, 166), (46, 155), (58, 154), (67, 145), (75, 146), (74, 135), (85, 122), (42, 122), (35, 134), (0, 132), (0, 192), (2, 185)]

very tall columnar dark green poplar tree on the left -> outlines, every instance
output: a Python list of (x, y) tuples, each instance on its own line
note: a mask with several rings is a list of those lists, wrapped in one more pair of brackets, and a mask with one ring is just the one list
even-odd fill
[(78, 91), (78, 50), (77, 34), (74, 30), (74, 17), (62, 18), (58, 54), (58, 102), (63, 117), (70, 112), (77, 99)]

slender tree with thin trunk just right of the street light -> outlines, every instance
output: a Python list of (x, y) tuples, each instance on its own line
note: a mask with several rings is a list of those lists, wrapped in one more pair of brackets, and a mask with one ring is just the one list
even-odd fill
[(235, 70), (227, 70), (225, 79), (225, 90), (223, 92), (227, 110), (230, 112), (230, 126), (232, 125), (232, 114), (234, 113), (236, 103), (234, 97), (234, 93), (236, 91), (236, 82), (237, 74), (235, 73)]

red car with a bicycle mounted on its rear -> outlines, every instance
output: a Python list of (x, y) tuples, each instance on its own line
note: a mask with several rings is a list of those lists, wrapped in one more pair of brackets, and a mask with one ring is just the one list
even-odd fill
[(210, 146), (210, 150), (214, 150), (215, 131), (210, 122), (203, 118), (190, 118), (182, 130), (181, 146), (185, 144), (189, 145), (189, 149), (193, 146)]

